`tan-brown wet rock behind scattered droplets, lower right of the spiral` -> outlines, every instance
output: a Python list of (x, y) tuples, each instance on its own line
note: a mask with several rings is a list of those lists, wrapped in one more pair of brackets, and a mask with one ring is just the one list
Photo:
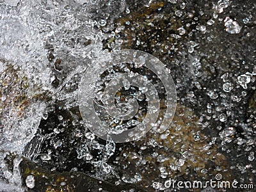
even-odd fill
[(154, 182), (164, 189), (168, 179), (205, 182), (214, 180), (217, 173), (232, 182), (234, 173), (215, 141), (202, 132), (202, 124), (191, 109), (178, 105), (168, 130), (162, 134), (150, 131), (125, 147), (120, 168), (128, 178), (140, 175), (143, 186), (151, 191)]

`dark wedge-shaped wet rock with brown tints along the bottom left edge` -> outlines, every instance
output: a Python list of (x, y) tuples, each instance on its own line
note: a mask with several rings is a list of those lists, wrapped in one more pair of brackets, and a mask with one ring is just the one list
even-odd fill
[(51, 172), (28, 159), (21, 161), (20, 172), (26, 191), (145, 191), (136, 185), (115, 185), (81, 172)]

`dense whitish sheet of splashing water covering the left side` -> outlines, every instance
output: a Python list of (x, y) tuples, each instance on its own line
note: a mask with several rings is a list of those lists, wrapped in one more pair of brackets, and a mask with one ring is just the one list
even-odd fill
[[(22, 154), (41, 118), (47, 119), (51, 111), (47, 106), (52, 100), (76, 98), (76, 92), (67, 92), (68, 78), (79, 73), (81, 68), (74, 70), (77, 65), (86, 68), (86, 61), (97, 56), (104, 38), (93, 29), (94, 21), (89, 17), (85, 1), (6, 0), (0, 4), (0, 150)], [(67, 59), (64, 68), (49, 63), (54, 57)], [(54, 73), (53, 68), (59, 73)], [(66, 81), (60, 78), (60, 72), (67, 76), (73, 70)], [(56, 80), (60, 81), (58, 88), (53, 86)], [(26, 156), (38, 156), (43, 140), (27, 150)], [(1, 154), (1, 158), (5, 156)], [(44, 161), (51, 159), (48, 154), (41, 157)], [(4, 182), (20, 186), (14, 173), (10, 173), (12, 177), (5, 174), (4, 163), (1, 172)], [(32, 178), (27, 177), (26, 183), (33, 188)], [(4, 188), (1, 182), (1, 191)]]

